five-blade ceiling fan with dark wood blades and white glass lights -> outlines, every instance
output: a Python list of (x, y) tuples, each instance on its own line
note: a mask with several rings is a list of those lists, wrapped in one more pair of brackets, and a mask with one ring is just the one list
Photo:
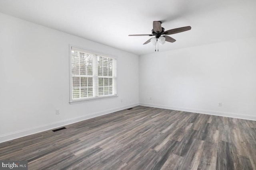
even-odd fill
[[(167, 35), (176, 34), (176, 33), (188, 31), (191, 29), (190, 26), (186, 26), (186, 27), (180, 27), (180, 28), (175, 28), (175, 29), (170, 29), (168, 31), (164, 31), (164, 28), (161, 26), (161, 24), (162, 24), (161, 21), (153, 21), (152, 34), (136, 34), (136, 35), (128, 35), (128, 36), (155, 36), (153, 38), (150, 38), (144, 44), (152, 42), (153, 44), (156, 45), (156, 43), (158, 43), (158, 42), (161, 44), (164, 44), (165, 41), (173, 43), (176, 41), (176, 39), (173, 39), (172, 37), (169, 37)], [(155, 51), (156, 51), (156, 49), (155, 49)]]

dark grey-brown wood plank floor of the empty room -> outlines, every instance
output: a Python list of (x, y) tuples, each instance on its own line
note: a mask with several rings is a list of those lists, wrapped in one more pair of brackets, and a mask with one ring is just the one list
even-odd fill
[(136, 106), (0, 143), (28, 169), (256, 170), (256, 121)]

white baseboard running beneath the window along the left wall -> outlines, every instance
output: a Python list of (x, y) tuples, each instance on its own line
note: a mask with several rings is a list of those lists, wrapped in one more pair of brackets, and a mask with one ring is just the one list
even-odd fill
[(108, 109), (108, 110), (105, 110), (105, 111), (100, 111), (100, 112), (97, 112), (97, 113), (92, 113), (90, 115), (74, 117), (72, 119), (58, 121), (58, 122), (50, 123), (50, 124), (47, 124), (47, 125), (33, 127), (33, 128), (30, 128), (30, 129), (24, 129), (24, 130), (21, 130), (21, 131), (16, 131), (14, 133), (8, 133), (8, 134), (0, 136), (0, 143), (6, 142), (6, 141), (10, 141), (10, 140), (13, 140), (13, 139), (17, 139), (17, 138), (20, 138), (20, 137), (25, 137), (25, 136), (28, 136), (28, 135), (33, 135), (35, 133), (40, 133), (40, 132), (43, 132), (43, 131), (48, 131), (48, 130), (51, 130), (51, 129), (56, 129), (56, 128), (61, 127), (61, 126), (70, 125), (72, 123), (76, 123), (76, 122), (79, 122), (79, 121), (84, 121), (86, 119), (91, 119), (93, 117), (98, 117), (98, 116), (101, 116), (101, 115), (106, 115), (108, 113), (113, 113), (115, 111), (120, 111), (120, 110), (127, 109), (127, 108), (130, 108), (130, 107), (138, 106), (138, 105), (139, 104), (131, 104), (131, 105), (127, 105), (127, 106), (116, 107), (116, 108)]

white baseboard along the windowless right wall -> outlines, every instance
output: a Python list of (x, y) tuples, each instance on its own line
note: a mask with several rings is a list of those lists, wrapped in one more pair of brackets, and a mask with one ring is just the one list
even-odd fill
[(149, 107), (157, 107), (157, 108), (162, 108), (162, 109), (188, 111), (188, 112), (193, 112), (193, 113), (202, 113), (202, 114), (207, 114), (207, 115), (233, 117), (233, 118), (238, 118), (238, 119), (247, 119), (247, 120), (256, 121), (256, 116), (254, 116), (254, 115), (244, 115), (244, 114), (239, 114), (239, 113), (229, 113), (229, 112), (212, 111), (212, 110), (199, 110), (199, 109), (191, 109), (191, 108), (180, 108), (180, 107), (164, 106), (164, 105), (148, 104), (148, 103), (140, 103), (140, 106), (149, 106)]

